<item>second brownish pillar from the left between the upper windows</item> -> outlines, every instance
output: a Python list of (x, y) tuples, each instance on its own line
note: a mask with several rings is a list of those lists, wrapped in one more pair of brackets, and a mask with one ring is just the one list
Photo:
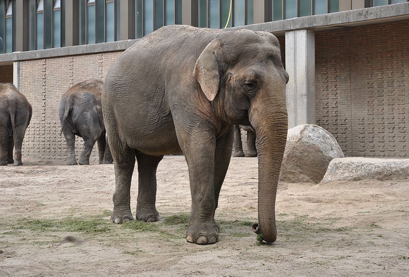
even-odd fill
[(65, 1), (65, 46), (79, 44), (78, 1)]

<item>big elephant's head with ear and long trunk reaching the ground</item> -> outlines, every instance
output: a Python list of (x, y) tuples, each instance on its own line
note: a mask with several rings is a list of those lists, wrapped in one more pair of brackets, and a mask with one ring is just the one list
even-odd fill
[(277, 184), (287, 139), (288, 74), (279, 41), (267, 32), (223, 32), (202, 51), (193, 76), (218, 118), (256, 131), (259, 225), (253, 228), (274, 242)]

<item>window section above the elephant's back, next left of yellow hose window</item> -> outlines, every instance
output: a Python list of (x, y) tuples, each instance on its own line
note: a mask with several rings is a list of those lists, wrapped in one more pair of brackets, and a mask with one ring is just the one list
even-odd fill
[(135, 0), (136, 38), (173, 24), (181, 24), (181, 0)]

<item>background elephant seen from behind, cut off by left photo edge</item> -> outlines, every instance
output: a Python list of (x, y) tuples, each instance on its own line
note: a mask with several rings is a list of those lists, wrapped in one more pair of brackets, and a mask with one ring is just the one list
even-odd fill
[(0, 166), (22, 166), (22, 140), (32, 113), (27, 98), (13, 84), (0, 83)]

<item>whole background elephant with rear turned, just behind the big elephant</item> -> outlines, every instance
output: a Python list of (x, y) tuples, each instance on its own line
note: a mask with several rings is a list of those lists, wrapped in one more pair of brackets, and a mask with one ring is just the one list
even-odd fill
[(95, 142), (98, 144), (99, 163), (112, 164), (112, 156), (106, 142), (102, 118), (101, 80), (90, 79), (71, 87), (61, 97), (59, 118), (61, 132), (67, 143), (67, 165), (77, 165), (75, 158), (75, 135), (84, 140), (78, 164), (89, 165), (89, 156)]

